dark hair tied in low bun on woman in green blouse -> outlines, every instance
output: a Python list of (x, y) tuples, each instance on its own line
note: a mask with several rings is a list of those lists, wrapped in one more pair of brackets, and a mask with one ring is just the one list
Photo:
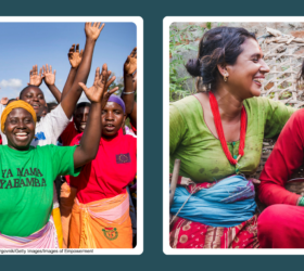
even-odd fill
[(216, 89), (219, 76), (217, 65), (233, 65), (243, 51), (241, 44), (250, 38), (256, 40), (255, 34), (241, 27), (216, 27), (203, 35), (198, 57), (189, 60), (186, 64), (191, 76), (202, 77), (197, 81), (198, 91), (202, 87), (210, 89), (208, 86)]

